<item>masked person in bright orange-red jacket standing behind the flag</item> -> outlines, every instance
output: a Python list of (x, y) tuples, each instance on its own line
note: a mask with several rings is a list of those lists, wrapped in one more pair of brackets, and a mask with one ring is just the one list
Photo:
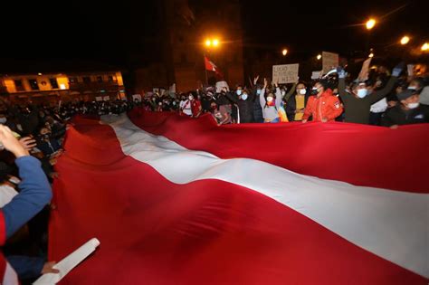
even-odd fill
[(333, 95), (325, 81), (316, 82), (311, 93), (316, 96), (311, 96), (307, 102), (302, 116), (303, 123), (306, 123), (310, 116), (317, 122), (333, 121), (343, 112), (341, 102)]

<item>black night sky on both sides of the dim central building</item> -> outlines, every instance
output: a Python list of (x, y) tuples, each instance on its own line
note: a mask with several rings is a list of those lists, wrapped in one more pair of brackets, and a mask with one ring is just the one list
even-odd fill
[[(204, 0), (201, 0), (204, 1)], [(362, 23), (369, 15), (386, 16), (371, 37), (372, 45), (386, 46), (404, 34), (429, 37), (427, 1), (242, 1), (245, 48), (263, 52), (287, 46), (305, 59), (322, 50), (348, 54), (362, 49), (367, 38)], [(5, 1), (2, 4), (0, 71), (25, 70), (29, 61), (64, 64), (91, 60), (127, 67), (133, 55), (157, 59), (156, 0)], [(11, 63), (12, 62), (12, 63)]]

